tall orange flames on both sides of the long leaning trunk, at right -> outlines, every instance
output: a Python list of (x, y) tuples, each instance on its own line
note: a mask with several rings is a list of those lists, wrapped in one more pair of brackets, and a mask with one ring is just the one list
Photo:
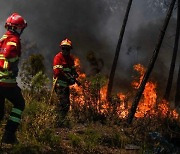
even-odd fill
[[(145, 73), (145, 68), (137, 64), (134, 66), (134, 69), (139, 72), (140, 78), (139, 81), (133, 81), (132, 85), (134, 86), (135, 89), (139, 88), (141, 81), (143, 79), (144, 73)], [(135, 117), (137, 118), (142, 118), (145, 116), (151, 116), (151, 115), (160, 115), (162, 117), (166, 117), (168, 114), (177, 119), (178, 118), (178, 113), (175, 110), (171, 110), (169, 102), (163, 100), (159, 103), (157, 106), (157, 84), (154, 82), (147, 82), (144, 92), (143, 92), (143, 99), (141, 99), (138, 109), (136, 111)]]

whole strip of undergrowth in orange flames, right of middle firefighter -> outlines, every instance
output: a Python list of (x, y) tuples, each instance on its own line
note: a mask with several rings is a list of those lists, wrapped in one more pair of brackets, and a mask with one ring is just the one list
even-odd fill
[[(108, 102), (106, 100), (107, 78), (101, 74), (86, 77), (86, 74), (80, 71), (80, 61), (76, 58), (76, 67), (80, 74), (79, 80), (82, 85), (74, 85), (71, 87), (71, 109), (80, 117), (80, 114), (85, 113), (85, 118), (106, 119), (107, 117), (117, 117), (120, 120), (125, 120), (129, 113), (132, 104), (132, 98), (139, 88), (146, 71), (141, 64), (134, 65), (134, 70), (138, 76), (131, 83), (133, 91), (129, 93), (119, 92), (115, 94)], [(161, 117), (178, 119), (178, 113), (171, 109), (170, 103), (165, 100), (160, 100), (157, 93), (157, 83), (148, 81), (140, 100), (135, 117), (151, 118)]]

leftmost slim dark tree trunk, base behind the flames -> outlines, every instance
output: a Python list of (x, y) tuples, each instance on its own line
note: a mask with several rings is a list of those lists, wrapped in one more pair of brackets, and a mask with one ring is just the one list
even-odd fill
[(117, 47), (116, 47), (116, 53), (115, 53), (115, 56), (114, 56), (112, 67), (111, 67), (111, 73), (110, 73), (110, 76), (109, 76), (109, 82), (108, 82), (107, 93), (106, 93), (107, 100), (110, 100), (110, 98), (111, 98), (111, 92), (112, 92), (112, 87), (113, 87), (113, 81), (114, 81), (114, 75), (115, 75), (115, 71), (116, 71), (117, 61), (118, 61), (118, 58), (119, 58), (121, 44), (122, 44), (122, 40), (123, 40), (123, 36), (124, 36), (126, 24), (127, 24), (129, 12), (130, 12), (130, 9), (131, 9), (131, 5), (132, 5), (132, 0), (129, 0), (128, 6), (127, 6), (127, 9), (126, 9), (126, 13), (125, 13), (125, 17), (124, 17), (124, 20), (123, 20), (123, 25), (121, 27), (121, 32), (120, 32), (120, 35), (119, 35), (118, 44), (117, 44)]

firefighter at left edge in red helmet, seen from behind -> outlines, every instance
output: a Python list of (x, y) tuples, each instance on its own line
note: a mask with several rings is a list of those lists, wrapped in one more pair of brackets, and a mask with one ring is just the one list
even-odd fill
[(20, 36), (27, 23), (18, 13), (9, 16), (5, 23), (6, 33), (0, 39), (0, 121), (4, 117), (5, 99), (8, 99), (13, 108), (5, 126), (2, 143), (17, 143), (16, 131), (21, 121), (25, 101), (18, 87), (18, 62), (21, 56)]

